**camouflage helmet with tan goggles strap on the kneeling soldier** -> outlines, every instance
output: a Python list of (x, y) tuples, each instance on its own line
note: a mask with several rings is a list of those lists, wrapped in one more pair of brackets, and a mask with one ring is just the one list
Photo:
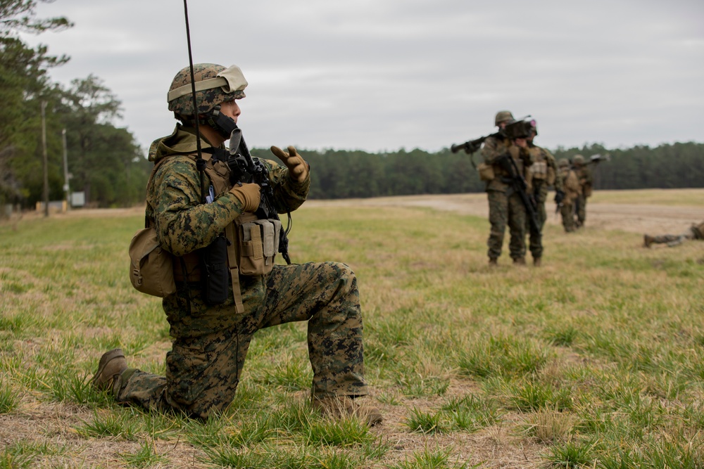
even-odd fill
[[(237, 65), (225, 68), (214, 63), (193, 65), (196, 80), (198, 114), (208, 113), (216, 105), (244, 98), (247, 80)], [(169, 110), (178, 115), (194, 115), (191, 88), (191, 68), (180, 70), (174, 77), (167, 95)]]

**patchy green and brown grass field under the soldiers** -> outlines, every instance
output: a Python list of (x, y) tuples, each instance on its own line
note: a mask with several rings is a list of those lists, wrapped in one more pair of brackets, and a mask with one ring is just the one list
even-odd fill
[[(649, 203), (677, 205), (661, 195)], [(486, 219), (304, 205), (291, 257), (356, 271), (384, 423), (311, 411), (295, 323), (256, 334), (237, 397), (203, 424), (88, 383), (118, 346), (164, 371), (161, 300), (127, 279), (142, 222), (0, 225), (0, 469), (704, 467), (704, 243), (646, 250), (635, 233), (547, 226), (541, 268), (505, 252), (489, 269)]]

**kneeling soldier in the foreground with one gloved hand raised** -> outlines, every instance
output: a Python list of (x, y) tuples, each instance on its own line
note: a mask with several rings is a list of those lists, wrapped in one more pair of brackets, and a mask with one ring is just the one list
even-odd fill
[[(146, 219), (159, 245), (172, 254), (176, 285), (162, 303), (172, 337), (166, 373), (128, 368), (122, 350), (113, 349), (101, 356), (94, 386), (110, 390), (121, 404), (205, 419), (232, 401), (257, 330), (307, 321), (313, 408), (379, 423), (379, 411), (356, 399), (367, 394), (367, 384), (355, 274), (339, 262), (272, 262), (277, 229), (270, 224), (278, 220), (254, 214), (263, 197), (260, 186), (248, 183), (230, 160), (249, 155), (237, 127), (237, 100), (244, 98), (247, 82), (234, 65), (197, 64), (193, 74), (195, 98), (188, 67), (173, 79), (168, 108), (180, 123), (149, 150), (156, 166)], [(227, 140), (230, 150), (223, 145)], [(265, 167), (277, 211), (296, 210), (308, 195), (310, 168), (292, 146), (271, 151), (282, 164), (250, 161)], [(215, 243), (234, 251), (225, 248), (226, 259), (208, 262)], [(222, 271), (218, 293), (224, 295), (215, 300), (208, 293), (211, 278), (222, 278)]]

